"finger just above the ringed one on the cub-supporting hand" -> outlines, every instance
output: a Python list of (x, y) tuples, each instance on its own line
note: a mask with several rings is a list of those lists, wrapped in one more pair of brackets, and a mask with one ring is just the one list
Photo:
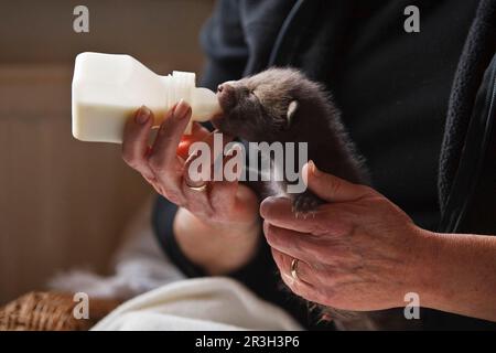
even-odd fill
[(322, 257), (322, 246), (311, 234), (280, 228), (267, 221), (263, 222), (263, 234), (272, 248), (291, 257), (305, 263), (319, 261)]

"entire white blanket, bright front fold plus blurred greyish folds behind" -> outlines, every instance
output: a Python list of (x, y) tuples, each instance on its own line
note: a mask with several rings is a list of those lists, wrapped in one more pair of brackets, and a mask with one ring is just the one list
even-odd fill
[(75, 270), (51, 287), (91, 298), (129, 299), (94, 330), (300, 330), (283, 310), (224, 277), (187, 279), (164, 256), (151, 228), (151, 201), (125, 233), (112, 276)]

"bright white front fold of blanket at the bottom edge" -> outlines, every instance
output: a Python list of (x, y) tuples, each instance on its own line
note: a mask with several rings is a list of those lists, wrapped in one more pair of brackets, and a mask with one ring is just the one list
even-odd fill
[(138, 296), (93, 330), (301, 330), (283, 310), (224, 277), (187, 279)]

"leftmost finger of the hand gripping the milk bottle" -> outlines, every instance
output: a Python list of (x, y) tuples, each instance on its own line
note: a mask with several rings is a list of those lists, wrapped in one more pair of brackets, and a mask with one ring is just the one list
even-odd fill
[(126, 121), (122, 137), (122, 159), (147, 179), (153, 179), (147, 160), (148, 138), (153, 124), (153, 113), (142, 106), (132, 119)]

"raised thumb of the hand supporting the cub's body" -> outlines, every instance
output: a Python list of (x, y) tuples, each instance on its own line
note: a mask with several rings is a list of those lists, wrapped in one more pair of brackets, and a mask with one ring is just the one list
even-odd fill
[(313, 161), (303, 165), (302, 174), (306, 186), (315, 195), (328, 202), (354, 201), (370, 194), (369, 188), (324, 173)]

